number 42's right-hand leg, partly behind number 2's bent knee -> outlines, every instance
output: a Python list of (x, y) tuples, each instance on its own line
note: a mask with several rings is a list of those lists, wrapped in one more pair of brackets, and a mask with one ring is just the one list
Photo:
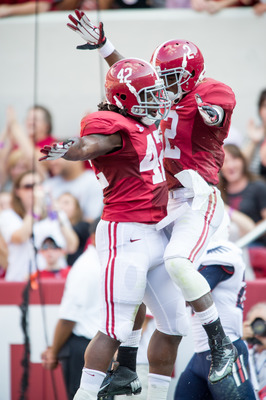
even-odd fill
[(148, 347), (148, 400), (163, 400), (171, 381), (178, 345), (187, 334), (188, 319), (179, 288), (164, 266), (148, 273), (144, 302), (154, 316), (156, 330)]

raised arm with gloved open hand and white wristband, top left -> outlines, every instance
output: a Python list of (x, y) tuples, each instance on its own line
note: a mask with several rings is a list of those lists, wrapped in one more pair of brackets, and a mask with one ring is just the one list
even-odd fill
[(86, 42), (86, 44), (77, 46), (77, 49), (98, 49), (99, 53), (110, 67), (115, 62), (125, 58), (114, 48), (110, 40), (106, 38), (102, 22), (100, 22), (99, 26), (93, 25), (84, 12), (79, 10), (75, 10), (75, 16), (69, 14), (68, 18), (71, 23), (68, 23), (67, 26), (78, 33)]

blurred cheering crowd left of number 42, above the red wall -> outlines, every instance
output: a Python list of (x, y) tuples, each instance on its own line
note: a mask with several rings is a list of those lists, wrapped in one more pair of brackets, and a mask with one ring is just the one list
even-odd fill
[(0, 139), (0, 265), (7, 281), (66, 277), (101, 215), (102, 189), (88, 163), (38, 161), (39, 149), (56, 140), (48, 109), (31, 108), (24, 127), (8, 108)]

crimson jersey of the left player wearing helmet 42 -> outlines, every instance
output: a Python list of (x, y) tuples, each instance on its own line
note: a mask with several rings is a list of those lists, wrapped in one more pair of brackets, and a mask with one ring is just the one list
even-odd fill
[(119, 132), (122, 148), (91, 161), (104, 195), (102, 219), (156, 223), (166, 215), (167, 185), (163, 145), (155, 125), (111, 111), (89, 114), (81, 122), (81, 136)]

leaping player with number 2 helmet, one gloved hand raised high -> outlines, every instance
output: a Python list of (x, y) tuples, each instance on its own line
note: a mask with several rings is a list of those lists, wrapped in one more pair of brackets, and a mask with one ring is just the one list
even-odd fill
[[(69, 15), (68, 26), (87, 42), (79, 49), (98, 48), (109, 65), (123, 58), (106, 39), (102, 23), (94, 26), (83, 12), (75, 13)], [(212, 354), (209, 380), (216, 383), (232, 372), (237, 350), (224, 333), (207, 280), (193, 263), (223, 219), (224, 205), (215, 185), (235, 96), (225, 84), (204, 77), (204, 58), (190, 41), (159, 45), (151, 63), (172, 100), (171, 111), (160, 124), (169, 190), (168, 216), (160, 226), (171, 226), (165, 266), (206, 330)]]

